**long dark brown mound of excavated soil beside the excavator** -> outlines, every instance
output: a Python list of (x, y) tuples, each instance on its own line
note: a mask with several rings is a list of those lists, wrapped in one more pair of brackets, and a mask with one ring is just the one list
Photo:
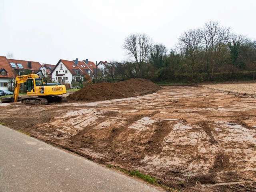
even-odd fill
[(102, 101), (128, 98), (157, 92), (161, 87), (146, 79), (130, 79), (117, 83), (90, 84), (68, 96), (72, 101)]

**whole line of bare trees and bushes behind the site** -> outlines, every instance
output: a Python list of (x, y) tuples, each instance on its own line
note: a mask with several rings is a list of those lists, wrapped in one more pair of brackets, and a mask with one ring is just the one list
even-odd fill
[(254, 80), (256, 41), (231, 32), (219, 22), (190, 29), (175, 48), (154, 44), (146, 34), (130, 34), (124, 40), (129, 61), (112, 61), (106, 77), (147, 78), (153, 81), (200, 82)]

